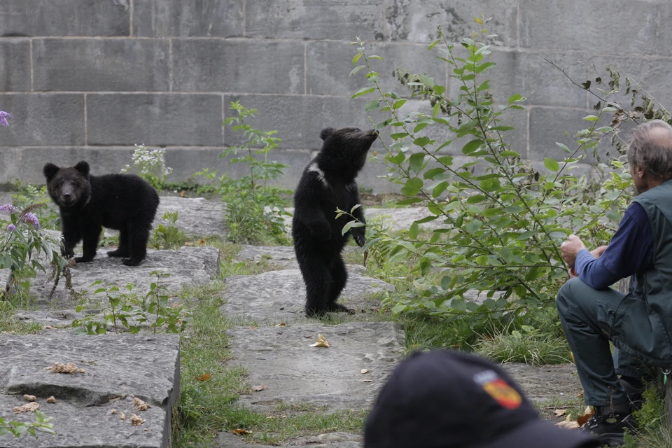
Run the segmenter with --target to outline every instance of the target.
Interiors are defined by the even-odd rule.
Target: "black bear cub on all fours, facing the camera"
[[[119,230],[119,248],[111,257],[127,257],[123,263],[137,266],[147,255],[147,240],[159,206],[159,195],[134,174],[91,176],[89,164],[74,167],[44,165],[47,188],[61,212],[63,256],[74,256],[73,248],[83,240],[78,263],[93,260],[103,227]]]

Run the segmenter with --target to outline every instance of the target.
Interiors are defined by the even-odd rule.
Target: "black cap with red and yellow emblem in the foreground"
[[[371,409],[365,448],[598,447],[590,435],[542,421],[499,367],[458,351],[414,353]]]

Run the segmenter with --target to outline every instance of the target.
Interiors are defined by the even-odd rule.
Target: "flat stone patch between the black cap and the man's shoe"
[[[576,400],[583,391],[573,364],[529,365],[503,364],[503,369],[523,389],[532,402]]]

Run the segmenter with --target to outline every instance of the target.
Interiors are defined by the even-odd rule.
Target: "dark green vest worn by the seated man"
[[[614,311],[611,338],[619,349],[659,367],[672,367],[672,180],[638,195],[649,218],[654,259],[636,273]]]

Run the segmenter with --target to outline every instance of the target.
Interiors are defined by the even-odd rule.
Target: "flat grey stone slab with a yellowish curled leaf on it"
[[[318,333],[329,348],[310,346]],[[228,334],[235,356],[228,365],[246,368],[252,386],[267,386],[239,398],[260,412],[280,402],[367,409],[405,352],[404,332],[393,322],[234,328]]]

